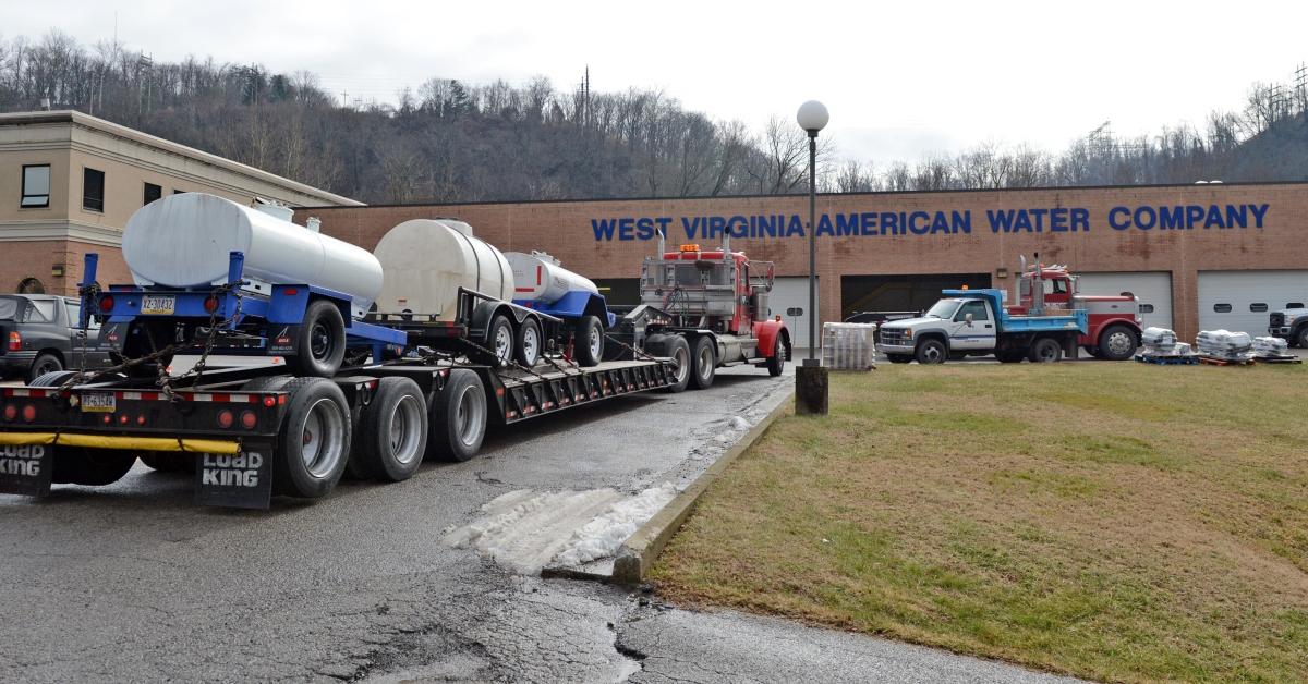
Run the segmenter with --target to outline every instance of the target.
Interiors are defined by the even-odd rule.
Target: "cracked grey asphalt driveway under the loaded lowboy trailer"
[[[636,395],[488,436],[407,483],[269,511],[191,504],[144,466],[44,501],[0,496],[4,681],[1008,680],[1042,675],[640,592],[521,577],[442,543],[505,492],[685,487],[790,377]],[[729,438],[723,438],[726,434]]]

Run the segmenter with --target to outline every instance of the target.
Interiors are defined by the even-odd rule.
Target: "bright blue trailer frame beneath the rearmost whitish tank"
[[[101,301],[94,301],[98,263],[99,255],[86,254],[82,282],[78,284],[82,297],[81,323],[85,326],[86,316],[92,313],[106,316],[101,340],[118,349],[126,341],[126,327],[135,320],[190,320],[194,323],[218,320],[220,330],[226,332],[235,332],[243,323],[260,320],[268,326],[267,335],[255,340],[252,345],[225,348],[225,351],[251,353],[250,349],[256,349],[264,356],[296,354],[300,351],[294,348],[297,336],[293,328],[303,323],[305,310],[313,299],[331,301],[341,310],[341,316],[345,320],[347,349],[366,348],[373,358],[382,358],[387,348],[399,354],[408,344],[408,335],[404,331],[354,319],[351,315],[352,297],[343,292],[300,282],[273,284],[268,294],[241,290],[241,286],[247,281],[242,277],[245,254],[239,251],[230,252],[228,281],[222,285],[198,288],[110,285],[109,290],[101,293],[101,301],[103,296],[112,297],[112,306],[107,311],[101,309]],[[146,297],[171,297],[173,307],[170,311],[143,311]],[[273,331],[272,328],[276,326],[284,327]]]

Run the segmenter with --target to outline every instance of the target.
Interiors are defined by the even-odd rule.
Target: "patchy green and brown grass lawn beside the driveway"
[[[832,374],[654,569],[672,600],[1105,680],[1308,680],[1308,371]]]

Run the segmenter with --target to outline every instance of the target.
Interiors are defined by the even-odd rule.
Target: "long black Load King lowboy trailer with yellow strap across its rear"
[[[69,379],[0,392],[0,493],[109,484],[95,479],[120,468],[116,480],[144,456],[161,470],[194,468],[198,504],[266,509],[279,493],[326,496],[347,468],[399,481],[432,453],[466,460],[488,426],[671,387],[676,370],[659,358],[532,369],[400,358],[332,378],[209,370],[166,390],[139,378]],[[332,450],[336,460],[324,456]]]

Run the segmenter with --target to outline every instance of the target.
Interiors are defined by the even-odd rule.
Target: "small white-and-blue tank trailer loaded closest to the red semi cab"
[[[617,320],[599,288],[543,251],[504,256],[513,267],[513,303],[561,319],[564,324],[551,341],[570,349],[582,366],[599,365],[604,358],[604,331]]]

